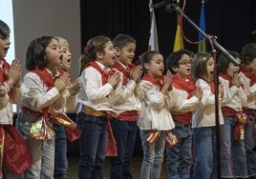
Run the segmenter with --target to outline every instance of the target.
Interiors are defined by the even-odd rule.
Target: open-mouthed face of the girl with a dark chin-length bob
[[[45,51],[46,58],[49,61],[46,68],[52,71],[62,68],[62,53],[56,39],[52,39]]]

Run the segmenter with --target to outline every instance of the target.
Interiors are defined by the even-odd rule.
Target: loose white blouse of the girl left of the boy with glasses
[[[163,95],[158,86],[148,81],[142,80],[140,84],[144,90],[144,98],[137,121],[139,129],[174,129],[175,124],[169,109],[174,107],[178,100],[175,89]]]

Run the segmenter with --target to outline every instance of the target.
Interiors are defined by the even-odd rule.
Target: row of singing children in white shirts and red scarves
[[[160,52],[148,51],[135,66],[137,42],[127,34],[118,34],[113,42],[101,35],[90,39],[74,84],[66,72],[71,60],[67,41],[61,44],[63,38],[54,36],[35,38],[26,54],[29,71],[21,77],[20,62],[14,60],[10,66],[4,59],[9,33],[0,21],[0,147],[5,149],[0,153],[1,178],[6,177],[6,169],[13,172],[6,160],[5,137],[13,120],[11,103],[20,99],[16,129],[27,142],[24,148],[30,160],[16,164],[14,171],[23,172],[23,178],[66,178],[68,131],[64,127],[76,129],[76,125],[69,134],[78,131],[79,179],[102,178],[106,156],[110,156],[110,178],[132,178],[129,167],[138,127],[142,179],[160,178],[164,151],[168,178],[191,178],[192,161],[193,178],[217,178],[219,134],[222,177],[256,177],[255,43],[246,44],[241,57],[230,51],[241,65],[219,55],[217,94],[212,54],[198,52],[191,57],[190,50],[178,50],[164,59]],[[75,124],[65,112],[77,104]],[[218,125],[220,133],[216,133]],[[57,156],[63,159],[59,163]]]

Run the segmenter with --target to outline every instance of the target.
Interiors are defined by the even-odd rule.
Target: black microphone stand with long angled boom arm
[[[167,3],[168,2],[168,3]],[[200,31],[203,36],[208,39],[210,42],[212,42],[215,47],[217,47],[219,50],[221,50],[235,65],[240,65],[238,61],[227,51],[224,50],[224,48],[217,42],[217,37],[206,34],[203,30],[201,30],[186,14],[184,14],[179,6],[177,6],[176,3],[174,3],[173,0],[163,0],[162,2],[156,4],[153,6],[153,9],[158,9],[162,6],[166,6],[167,4],[171,4],[171,7],[173,7],[174,10],[177,11],[178,14],[182,15],[182,17],[196,30]],[[216,50],[213,50],[213,57],[214,57],[214,88],[215,88],[215,124],[216,124],[216,162],[217,162],[217,178],[221,178],[221,148],[220,148],[220,118],[219,118],[219,77],[218,77],[218,68],[216,63]]]

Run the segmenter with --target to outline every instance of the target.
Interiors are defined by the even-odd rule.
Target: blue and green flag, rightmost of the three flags
[[[205,19],[204,19],[204,0],[202,0],[201,3],[201,12],[200,12],[200,25],[199,28],[203,31],[205,31]],[[202,41],[202,43],[199,44],[199,51],[206,51],[206,41],[203,38],[203,34],[199,32],[199,41]]]

